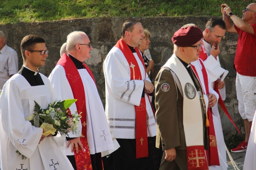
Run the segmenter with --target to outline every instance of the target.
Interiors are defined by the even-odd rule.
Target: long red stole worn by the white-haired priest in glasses
[[[76,153],[74,148],[76,168],[92,170],[93,168],[91,165],[91,158],[90,158],[89,146],[88,146],[87,135],[86,135],[87,127],[86,127],[85,91],[81,90],[81,89],[84,89],[84,85],[75,64],[73,63],[73,61],[69,56],[67,56],[66,54],[63,54],[60,57],[57,65],[58,64],[64,67],[66,72],[66,77],[71,87],[74,99],[77,99],[77,101],[75,102],[77,113],[82,112],[82,118],[81,118],[82,134],[85,137],[80,138],[80,141],[82,142],[85,151],[82,151],[81,148],[79,147],[79,152]],[[88,68],[88,66],[86,66],[86,64],[83,63],[83,65],[84,65],[84,68],[86,68],[86,70],[90,74],[91,78],[94,80],[91,70]],[[76,80],[74,80],[74,78],[76,78]]]

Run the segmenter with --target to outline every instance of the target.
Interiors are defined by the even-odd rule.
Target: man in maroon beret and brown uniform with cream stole
[[[176,31],[174,54],[156,77],[156,147],[165,151],[160,169],[208,169],[208,119],[202,87],[190,66],[199,58],[202,37],[194,26]]]

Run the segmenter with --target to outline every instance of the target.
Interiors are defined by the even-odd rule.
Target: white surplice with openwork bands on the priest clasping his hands
[[[137,53],[133,53],[133,55],[140,67],[142,76],[140,80],[131,80],[130,64],[123,52],[117,47],[110,50],[103,63],[106,89],[105,112],[110,129],[116,138],[135,139],[136,114],[134,105],[140,105],[141,96],[144,92],[143,80],[150,81],[145,74],[144,63],[141,63]],[[156,136],[156,120],[146,94],[145,100],[147,136],[153,137]]]

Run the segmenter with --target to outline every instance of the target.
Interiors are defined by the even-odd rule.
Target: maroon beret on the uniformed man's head
[[[202,30],[191,26],[176,31],[172,37],[172,42],[179,47],[188,47],[196,44],[202,37]]]

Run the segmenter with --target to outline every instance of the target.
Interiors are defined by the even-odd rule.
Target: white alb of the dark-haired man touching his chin
[[[205,51],[207,53],[207,59],[204,60],[205,68],[207,69],[207,72],[209,73],[210,80],[211,80],[211,87],[214,89],[214,81],[216,81],[225,71],[225,69],[221,68],[221,65],[219,63],[219,57],[217,56],[217,60],[210,55],[212,46],[207,43],[205,40],[203,40],[203,44],[205,47]],[[222,89],[219,89],[219,94],[222,97],[222,100],[226,99],[226,86],[224,86]],[[225,148],[225,141],[222,131],[222,125],[221,125],[221,117],[219,116],[218,111],[218,104],[215,104],[212,107],[213,111],[213,123],[214,123],[214,130],[217,140],[217,146],[218,146],[218,153],[219,153],[219,163],[220,166],[212,165],[209,167],[210,170],[219,169],[224,170],[227,169],[227,156],[226,156],[226,148]]]

